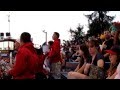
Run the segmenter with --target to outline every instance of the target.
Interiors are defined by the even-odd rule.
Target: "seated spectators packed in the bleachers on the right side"
[[[120,79],[120,31],[105,30],[83,43],[66,42],[66,60],[79,62],[68,79]],[[68,44],[69,43],[69,44]]]

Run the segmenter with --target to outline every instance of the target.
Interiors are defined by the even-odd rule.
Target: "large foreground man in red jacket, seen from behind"
[[[27,32],[22,33],[20,44],[15,65],[8,74],[12,75],[13,79],[34,79],[39,59],[31,42],[31,35]]]

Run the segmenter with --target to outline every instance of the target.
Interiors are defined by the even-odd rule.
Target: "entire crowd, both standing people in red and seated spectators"
[[[120,79],[120,30],[105,30],[97,37],[84,38],[81,43],[66,41],[64,45],[59,37],[59,33],[54,32],[53,41],[36,49],[31,35],[23,32],[15,42],[14,64],[5,71],[5,76],[61,79],[66,62],[78,62],[76,69],[67,73],[67,79]],[[1,57],[0,65],[2,62]]]

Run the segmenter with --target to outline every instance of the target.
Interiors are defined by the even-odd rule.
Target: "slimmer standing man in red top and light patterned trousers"
[[[59,33],[54,32],[52,36],[54,43],[51,46],[51,50],[48,54],[48,58],[50,59],[51,64],[51,75],[54,79],[60,79],[61,78],[61,56],[60,56],[60,39],[59,39]]]

